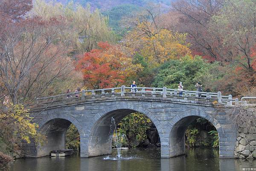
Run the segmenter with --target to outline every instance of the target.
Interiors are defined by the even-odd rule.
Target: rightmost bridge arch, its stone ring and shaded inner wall
[[[185,154],[185,131],[187,127],[198,118],[204,118],[211,122],[217,130],[219,138],[221,137],[220,135],[223,135],[224,130],[221,125],[207,113],[198,112],[193,115],[188,115],[186,113],[179,114],[172,119],[172,126],[169,134],[169,157]]]

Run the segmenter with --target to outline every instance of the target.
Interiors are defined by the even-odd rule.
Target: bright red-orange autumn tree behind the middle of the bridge
[[[84,85],[88,88],[110,88],[120,86],[142,67],[132,64],[132,58],[125,55],[121,46],[99,42],[101,49],[86,52],[80,58],[76,70],[84,74]]]

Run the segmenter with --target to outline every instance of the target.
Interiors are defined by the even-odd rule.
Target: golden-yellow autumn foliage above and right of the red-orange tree
[[[191,54],[186,36],[186,33],[157,29],[151,23],[144,22],[138,23],[123,43],[131,51],[140,51],[149,63],[158,65]]]

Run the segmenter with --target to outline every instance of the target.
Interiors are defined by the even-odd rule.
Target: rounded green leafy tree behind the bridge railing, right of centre
[[[218,67],[218,63],[210,64],[200,56],[185,56],[179,60],[167,61],[156,69],[152,86],[177,89],[179,81],[182,81],[184,90],[195,90],[194,85],[201,81],[204,91],[216,91],[218,85],[215,85],[215,81],[224,75],[216,72]]]

